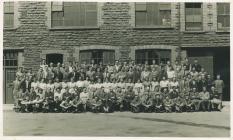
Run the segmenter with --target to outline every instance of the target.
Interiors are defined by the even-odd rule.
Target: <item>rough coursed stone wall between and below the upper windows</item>
[[[131,46],[178,45],[177,3],[172,4],[170,29],[135,29],[134,3],[100,3],[99,28],[77,30],[50,30],[47,2],[19,2],[19,26],[4,30],[4,48],[25,47],[24,66],[38,69],[42,50],[64,50],[66,60],[73,59],[75,48],[105,45],[120,48],[120,59],[130,57]],[[181,4],[181,8],[184,4]],[[184,9],[181,9],[181,14]],[[184,16],[184,15],[183,15]],[[204,17],[205,18],[205,17]],[[181,17],[183,24],[183,17]],[[182,28],[183,31],[183,28]],[[189,46],[230,46],[229,33],[183,33],[182,43]],[[43,51],[45,52],[45,51]]]

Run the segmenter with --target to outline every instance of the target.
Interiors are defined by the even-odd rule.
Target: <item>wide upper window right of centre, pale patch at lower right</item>
[[[136,26],[166,26],[171,25],[170,3],[143,3],[135,4]]]

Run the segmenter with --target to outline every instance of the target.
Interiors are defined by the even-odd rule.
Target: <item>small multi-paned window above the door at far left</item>
[[[4,51],[3,66],[18,66],[18,52],[16,51]]]

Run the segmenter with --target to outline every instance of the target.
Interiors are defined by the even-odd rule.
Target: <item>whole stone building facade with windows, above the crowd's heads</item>
[[[95,4],[96,24],[94,26],[55,27],[52,25],[53,3],[13,2],[13,7],[11,5],[13,23],[10,22],[11,27],[4,27],[3,47],[4,59],[7,61],[7,55],[14,52],[14,61],[17,62],[14,65],[7,64],[10,63],[10,59],[9,62],[4,61],[4,75],[5,78],[8,77],[8,80],[5,80],[13,79],[10,75],[14,70],[9,74],[7,73],[9,68],[23,66],[36,71],[41,59],[58,58],[63,63],[68,63],[81,61],[81,52],[109,50],[113,52],[114,60],[143,62],[145,59],[149,60],[150,55],[146,58],[144,56],[138,58],[140,55],[138,52],[145,51],[141,55],[146,55],[150,54],[146,53],[146,50],[159,50],[158,61],[174,62],[177,58],[185,57],[192,61],[197,58],[212,75],[225,73],[224,78],[229,84],[230,30],[228,27],[220,28],[223,25],[218,20],[218,4],[200,3],[200,7],[198,5],[191,7],[200,8],[200,16],[196,19],[200,22],[201,28],[187,30],[187,20],[190,17],[186,12],[190,7],[186,3],[169,3],[165,4],[164,9],[159,9],[169,13],[166,26],[161,24],[137,26],[137,22],[139,23],[137,13],[148,10],[150,4],[141,3],[138,6],[134,2],[100,2]],[[65,4],[62,3],[62,5]],[[57,10],[59,11],[59,8]],[[147,20],[149,14],[148,12]],[[195,18],[193,20],[194,26],[199,24],[195,22]],[[192,23],[190,25],[192,26]],[[166,54],[167,50],[168,56],[166,58],[160,56],[160,50],[162,50],[161,54]],[[50,61],[52,60],[47,60],[47,62]],[[9,77],[11,77],[10,80]],[[5,88],[7,89],[7,86]]]

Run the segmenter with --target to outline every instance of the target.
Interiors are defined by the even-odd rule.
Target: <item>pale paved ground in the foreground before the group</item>
[[[4,110],[4,136],[229,137],[230,110],[195,113],[15,113]]]

